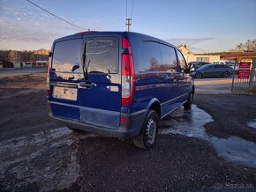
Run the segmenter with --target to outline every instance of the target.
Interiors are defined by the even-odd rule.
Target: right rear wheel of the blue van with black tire
[[[158,116],[154,110],[150,110],[147,114],[145,122],[143,122],[139,136],[133,138],[133,143],[141,149],[149,149],[154,146],[157,136]]]

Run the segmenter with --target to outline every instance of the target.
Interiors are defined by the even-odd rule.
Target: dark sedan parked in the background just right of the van
[[[205,64],[191,73],[192,78],[229,78],[233,69],[226,64]]]

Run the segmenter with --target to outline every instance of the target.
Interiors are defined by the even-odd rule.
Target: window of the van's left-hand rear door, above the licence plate
[[[56,42],[53,51],[52,68],[56,71],[79,72],[74,70],[74,65],[81,63],[81,40]]]

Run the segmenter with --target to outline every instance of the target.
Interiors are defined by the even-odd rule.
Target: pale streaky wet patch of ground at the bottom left
[[[69,188],[80,176],[77,144],[85,137],[93,135],[62,127],[1,142],[0,180],[4,189],[21,190],[33,183],[40,191]]]

